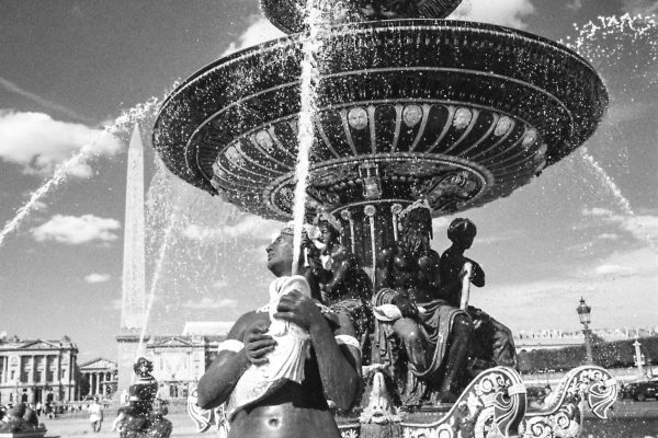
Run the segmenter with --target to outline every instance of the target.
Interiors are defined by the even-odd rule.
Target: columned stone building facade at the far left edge
[[[78,347],[59,341],[0,339],[0,404],[76,400]]]

